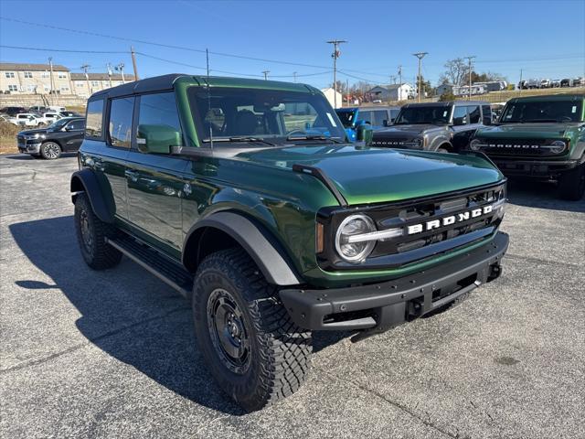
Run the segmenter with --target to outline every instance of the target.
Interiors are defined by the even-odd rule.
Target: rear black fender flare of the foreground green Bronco
[[[85,192],[88,198],[90,198],[93,213],[103,222],[112,223],[115,211],[112,193],[110,190],[110,193],[104,194],[102,187],[104,185],[100,184],[95,172],[89,168],[81,169],[80,171],[74,172],[71,176],[71,200],[75,204],[77,194],[79,192]]]

